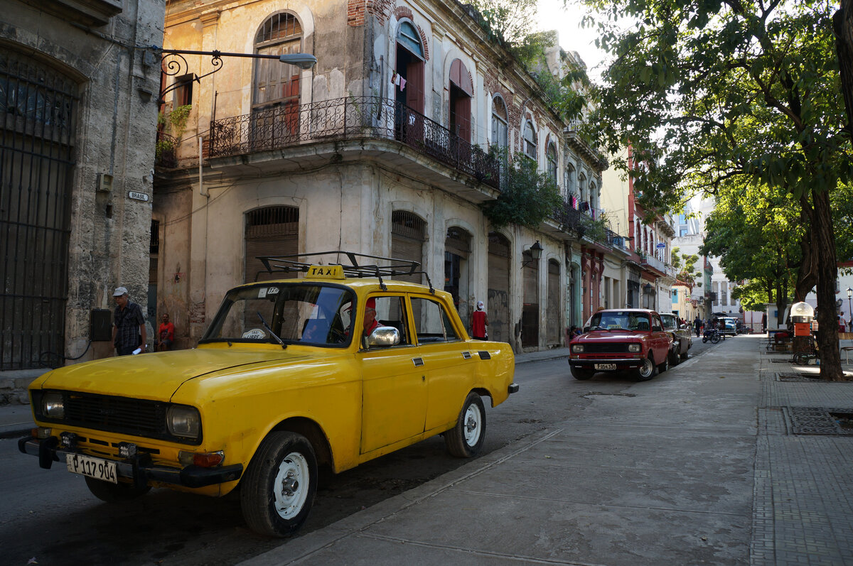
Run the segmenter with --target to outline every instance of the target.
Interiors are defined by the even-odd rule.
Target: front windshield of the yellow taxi
[[[199,341],[256,344],[350,343],[355,293],[343,286],[263,283],[228,292]]]

